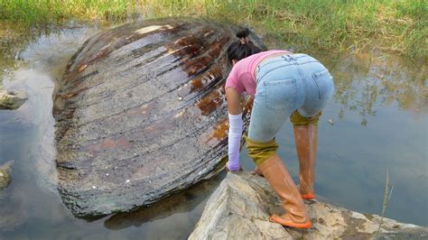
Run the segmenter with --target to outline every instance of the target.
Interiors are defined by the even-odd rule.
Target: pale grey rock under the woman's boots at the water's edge
[[[369,239],[379,216],[360,214],[327,203],[306,201],[312,228],[298,230],[269,222],[282,212],[281,202],[265,179],[247,172],[228,173],[211,195],[189,239]],[[426,239],[428,228],[384,218],[380,239]]]

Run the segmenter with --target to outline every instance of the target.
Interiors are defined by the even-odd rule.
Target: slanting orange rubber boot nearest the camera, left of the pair
[[[286,211],[284,215],[274,214],[270,219],[284,226],[310,228],[312,224],[299,190],[278,155],[267,159],[258,168],[276,194],[283,199],[283,208]]]

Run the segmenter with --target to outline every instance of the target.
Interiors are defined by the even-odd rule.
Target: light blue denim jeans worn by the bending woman
[[[248,137],[259,143],[271,141],[295,110],[305,117],[317,115],[333,92],[329,70],[311,56],[287,54],[262,60],[256,68]]]

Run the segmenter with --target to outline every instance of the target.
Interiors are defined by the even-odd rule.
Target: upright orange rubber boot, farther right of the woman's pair
[[[294,141],[299,158],[299,190],[303,199],[315,198],[315,162],[318,141],[318,126],[295,125]]]

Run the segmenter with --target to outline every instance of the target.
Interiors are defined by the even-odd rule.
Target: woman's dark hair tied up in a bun
[[[249,29],[245,28],[237,32],[237,38],[239,39],[237,42],[232,42],[230,46],[228,46],[228,61],[232,62],[232,60],[242,60],[251,56],[255,53],[260,52],[260,48],[258,48],[253,42],[248,41],[247,37],[249,35]]]

